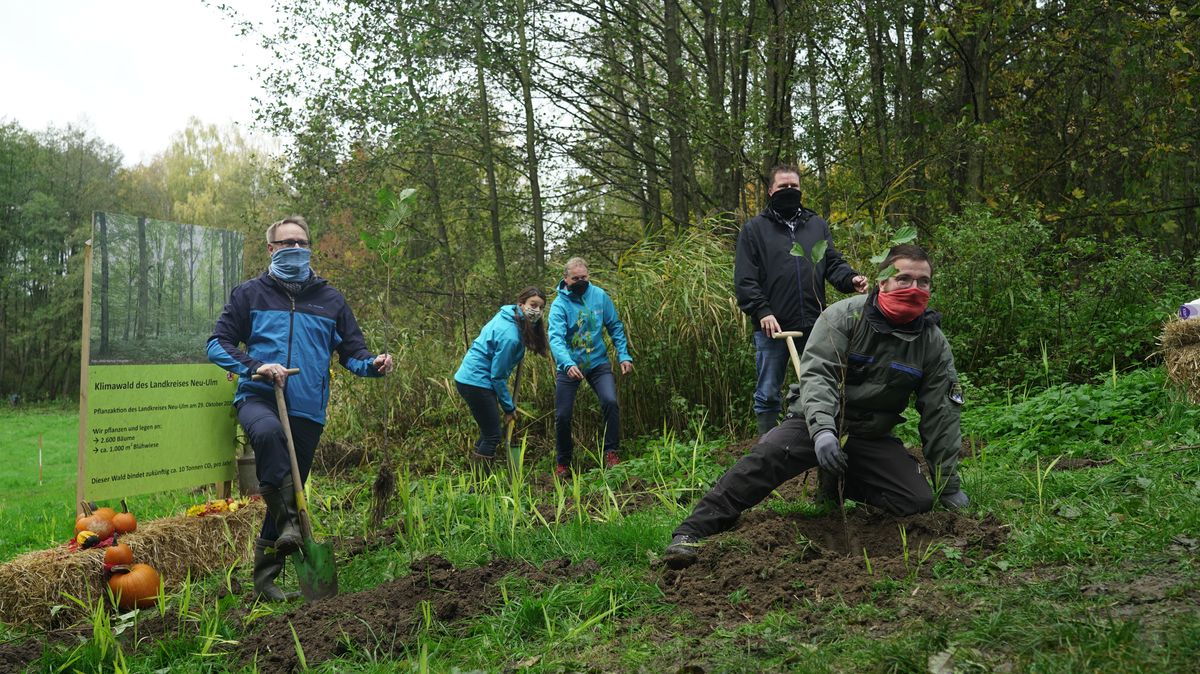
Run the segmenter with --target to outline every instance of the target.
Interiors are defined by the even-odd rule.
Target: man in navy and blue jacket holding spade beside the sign
[[[240,378],[233,404],[254,447],[259,491],[268,508],[254,542],[254,591],[270,601],[286,598],[275,578],[301,542],[292,462],[274,385],[286,387],[296,463],[300,479],[306,480],[325,428],[332,353],[359,377],[383,377],[394,367],[390,355],[367,350],[346,297],[312,271],[311,241],[308,223],[299,216],[266,228],[271,265],[233,289],[208,345],[209,360]],[[300,368],[300,373],[288,377],[288,368]],[[253,374],[266,381],[252,381]]]

